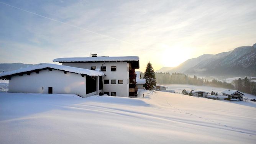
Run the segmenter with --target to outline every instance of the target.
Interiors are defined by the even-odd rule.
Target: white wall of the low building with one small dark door
[[[53,87],[53,93],[78,94],[82,97],[94,95],[95,92],[86,95],[85,79],[80,74],[64,74],[61,70],[41,70],[39,74],[32,72],[30,75],[11,77],[9,92],[48,93],[48,87]]]

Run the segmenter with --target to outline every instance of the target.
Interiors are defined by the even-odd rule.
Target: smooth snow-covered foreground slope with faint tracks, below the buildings
[[[254,144],[256,141],[256,106],[168,92],[144,90],[139,95],[140,98],[80,98],[0,93],[0,143]]]

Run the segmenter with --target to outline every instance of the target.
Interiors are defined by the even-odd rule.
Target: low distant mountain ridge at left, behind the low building
[[[43,63],[41,63],[43,64]],[[5,71],[11,71],[16,69],[22,69],[25,67],[31,67],[33,65],[40,65],[40,64],[23,64],[23,63],[11,63],[11,64],[0,64],[0,72]]]

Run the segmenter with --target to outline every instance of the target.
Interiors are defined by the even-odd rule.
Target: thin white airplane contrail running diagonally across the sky
[[[64,22],[62,22],[62,21],[54,20],[54,19],[52,19],[52,18],[43,16],[43,15],[39,15],[39,14],[37,14],[37,13],[33,13],[33,12],[31,12],[31,11],[28,11],[28,10],[24,10],[24,9],[18,8],[18,7],[15,7],[15,6],[13,6],[13,5],[9,5],[9,4],[4,3],[4,2],[0,2],[0,3],[2,3],[2,4],[4,4],[4,5],[8,5],[8,6],[13,7],[13,8],[16,8],[16,9],[18,9],[18,10],[22,10],[22,11],[31,13],[31,14],[33,14],[33,15],[40,16],[40,17],[42,17],[42,18],[46,18],[46,19],[49,19],[49,20],[52,20],[52,21],[56,21],[56,22],[62,23],[62,24],[64,24],[64,25],[72,26],[72,27],[74,27],[74,28],[82,29],[82,30],[88,31],[88,32],[90,32],[90,33],[94,33],[94,34],[98,34],[98,35],[100,35],[100,36],[104,36],[104,37],[107,37],[107,38],[115,39],[115,40],[120,41],[120,42],[122,42],[122,43],[127,43],[127,44],[130,44],[130,45],[133,45],[133,46],[138,46],[137,44],[129,43],[129,42],[127,42],[127,41],[123,41],[123,40],[121,40],[121,39],[113,38],[113,37],[107,36],[107,35],[105,35],[105,34],[96,33],[96,32],[94,32],[94,31],[90,31],[89,29],[80,28],[80,27],[78,27],[78,26],[74,26],[74,25],[71,25],[71,24],[69,24],[69,23],[64,23]],[[138,47],[142,47],[142,46],[138,46]],[[143,47],[143,48],[146,48],[146,47]]]

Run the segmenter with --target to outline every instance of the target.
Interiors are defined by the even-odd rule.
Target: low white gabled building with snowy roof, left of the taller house
[[[80,97],[102,92],[103,72],[57,64],[42,64],[0,74],[11,93],[60,93]]]

